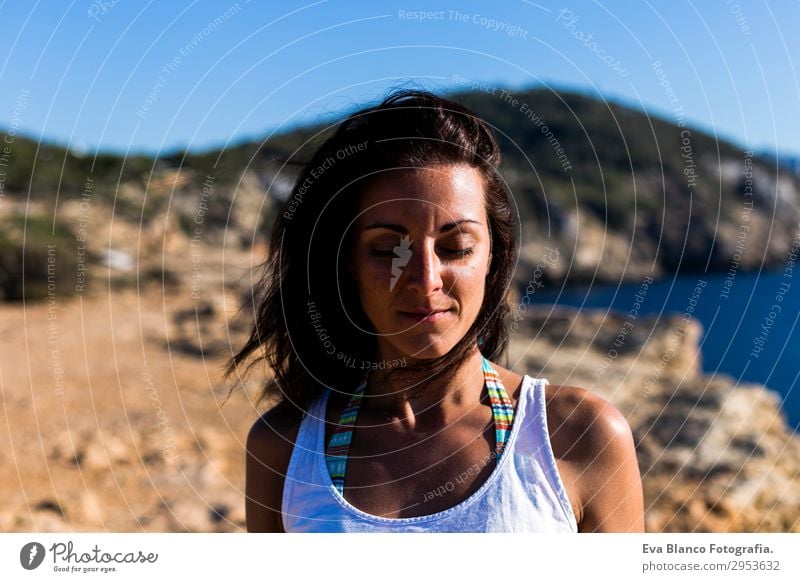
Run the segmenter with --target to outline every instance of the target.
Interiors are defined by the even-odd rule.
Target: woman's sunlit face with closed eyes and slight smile
[[[388,171],[365,189],[348,268],[379,360],[443,356],[475,321],[491,256],[484,189],[466,165]]]

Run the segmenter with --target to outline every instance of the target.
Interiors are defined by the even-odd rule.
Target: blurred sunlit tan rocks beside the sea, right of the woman
[[[641,318],[635,328],[649,340],[626,340],[635,347],[618,350],[603,368],[598,357],[607,358],[621,316],[549,311],[536,307],[526,314],[536,339],[512,338],[511,363],[556,384],[589,388],[625,415],[642,472],[648,531],[800,528],[800,437],[787,426],[774,392],[701,372],[699,323],[681,327],[678,317]]]

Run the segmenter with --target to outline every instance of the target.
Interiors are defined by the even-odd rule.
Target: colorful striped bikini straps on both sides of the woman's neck
[[[483,358],[483,380],[484,386],[489,393],[489,400],[492,405],[492,416],[495,425],[495,457],[499,461],[505,450],[506,441],[511,432],[511,425],[514,422],[514,407],[508,393],[500,381],[489,360]],[[356,388],[350,397],[347,406],[339,417],[339,423],[331,435],[325,453],[325,461],[328,465],[328,472],[331,476],[336,490],[344,495],[344,474],[347,468],[347,453],[350,450],[350,442],[353,439],[353,427],[358,418],[358,409],[367,388],[366,380]]]

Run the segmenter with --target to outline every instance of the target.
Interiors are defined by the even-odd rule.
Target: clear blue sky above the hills
[[[219,146],[458,75],[800,154],[797,1],[44,0],[0,21],[0,127],[79,150]]]

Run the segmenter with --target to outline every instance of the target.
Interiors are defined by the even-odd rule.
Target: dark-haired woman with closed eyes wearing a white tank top
[[[499,162],[470,111],[403,91],[305,166],[229,367],[274,371],[249,531],[643,530],[621,414],[495,363],[517,247]]]

